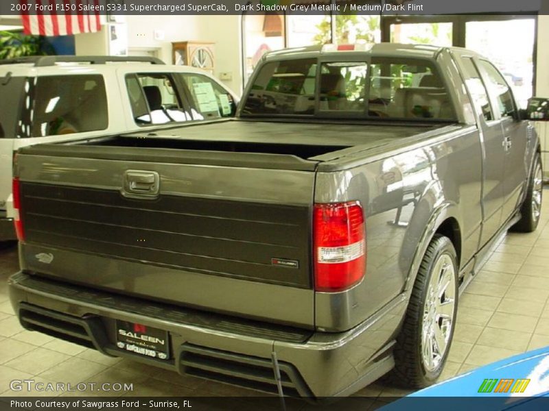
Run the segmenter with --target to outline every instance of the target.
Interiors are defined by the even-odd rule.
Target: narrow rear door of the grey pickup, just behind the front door
[[[477,114],[478,132],[484,147],[482,175],[482,234],[480,247],[502,225],[504,201],[505,147],[502,120],[494,115],[486,84],[478,71],[476,59],[467,55],[458,58],[465,84]]]

